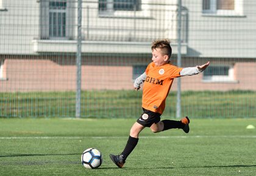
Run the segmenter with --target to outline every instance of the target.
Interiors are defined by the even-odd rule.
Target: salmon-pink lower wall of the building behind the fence
[[[76,90],[77,70],[74,63],[7,58],[2,68],[8,80],[0,81],[0,92]],[[202,74],[184,76],[182,90],[256,90],[256,63],[235,63],[234,72],[236,83],[204,83]],[[131,64],[82,64],[81,76],[82,90],[133,89]],[[176,87],[177,80],[174,80],[171,90],[176,90]]]

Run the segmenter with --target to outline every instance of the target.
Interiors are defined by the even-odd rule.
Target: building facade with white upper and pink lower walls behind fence
[[[171,40],[182,90],[256,90],[256,2],[82,1],[82,90],[133,89],[151,62],[151,42]],[[77,1],[0,0],[0,92],[76,90]],[[176,89],[176,81],[172,88]]]

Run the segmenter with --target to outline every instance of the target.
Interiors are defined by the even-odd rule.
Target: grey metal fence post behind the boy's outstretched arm
[[[182,0],[178,2],[178,52],[177,52],[177,66],[181,67],[181,13],[182,13]],[[177,80],[177,104],[176,104],[176,118],[181,117],[181,81]]]

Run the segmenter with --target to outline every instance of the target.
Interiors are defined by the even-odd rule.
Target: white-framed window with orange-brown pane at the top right
[[[242,15],[243,0],[202,0],[202,12],[215,15]]]

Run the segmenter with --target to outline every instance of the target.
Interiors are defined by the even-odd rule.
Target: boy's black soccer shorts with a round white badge
[[[137,123],[141,124],[144,127],[151,127],[153,123],[158,123],[160,121],[160,113],[152,112],[143,108],[143,113],[140,118],[138,118]]]

